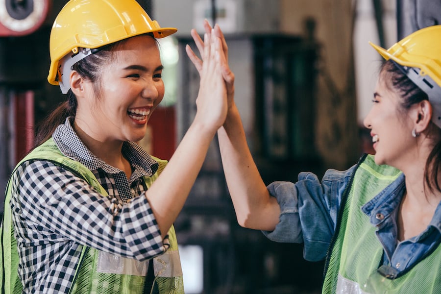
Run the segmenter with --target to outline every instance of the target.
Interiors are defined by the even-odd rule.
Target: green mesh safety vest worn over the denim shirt
[[[371,155],[359,164],[342,207],[339,231],[330,251],[323,283],[323,294],[441,294],[441,246],[395,279],[388,279],[377,272],[383,247],[375,235],[376,228],[360,208],[400,173],[390,166],[376,165]],[[337,284],[341,282],[339,279],[349,281],[346,283],[352,287],[338,289]]]

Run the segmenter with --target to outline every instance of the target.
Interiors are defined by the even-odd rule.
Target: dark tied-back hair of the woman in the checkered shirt
[[[154,38],[152,33],[146,33],[144,35]],[[72,69],[79,73],[83,79],[93,83],[96,95],[98,95],[101,90],[99,79],[101,77],[102,65],[112,61],[113,51],[120,46],[123,46],[125,41],[127,41],[127,39],[103,46],[93,54],[81,59],[72,66]],[[67,101],[58,105],[58,107],[37,126],[35,145],[33,148],[46,142],[52,136],[52,133],[57,126],[64,123],[68,117],[75,117],[77,101],[72,89],[69,89],[66,96]]]

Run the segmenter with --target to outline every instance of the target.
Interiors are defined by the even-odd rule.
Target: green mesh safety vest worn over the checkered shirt
[[[153,181],[159,176],[160,172],[165,168],[167,161],[154,158],[158,164],[157,172],[151,177],[144,177],[147,188],[151,186]],[[20,166],[27,160],[46,160],[54,164],[61,165],[78,176],[85,179],[94,189],[103,196],[108,196],[104,188],[101,187],[93,172],[77,161],[64,156],[55,145],[52,139],[41,146],[35,148],[29,153],[18,165]],[[16,167],[16,169],[17,169]],[[15,172],[15,170],[14,170]],[[9,204],[11,197],[11,187],[8,183],[6,189],[4,216],[1,226],[1,261],[3,267],[0,270],[0,281],[2,282],[2,290],[6,294],[21,294],[23,285],[18,276],[19,256],[17,252],[17,241],[14,237],[14,228],[12,226],[12,215]],[[180,268],[178,246],[174,227],[169,230],[169,249],[161,256],[154,258],[155,283],[153,288],[158,290],[159,294],[183,294],[184,286],[182,279],[182,270]],[[97,272],[97,260],[99,251],[86,246],[79,246],[81,251],[80,262],[76,270],[73,285],[70,293],[73,294],[141,294],[144,290],[145,276],[102,273]],[[172,256],[166,259],[167,264],[162,259],[164,256]],[[173,263],[175,261],[175,263]],[[166,272],[166,274],[163,274]],[[157,274],[156,274],[157,273]],[[170,273],[177,273],[172,276]],[[155,292],[153,292],[155,293]]]

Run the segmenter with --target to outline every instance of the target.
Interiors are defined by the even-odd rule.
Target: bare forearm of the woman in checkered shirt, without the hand
[[[194,122],[164,171],[146,192],[163,237],[184,206],[215,132]]]

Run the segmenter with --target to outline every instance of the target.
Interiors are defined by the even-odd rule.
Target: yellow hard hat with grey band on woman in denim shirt
[[[369,44],[386,60],[392,59],[429,97],[432,121],[441,128],[441,25],[413,32],[389,49]]]

